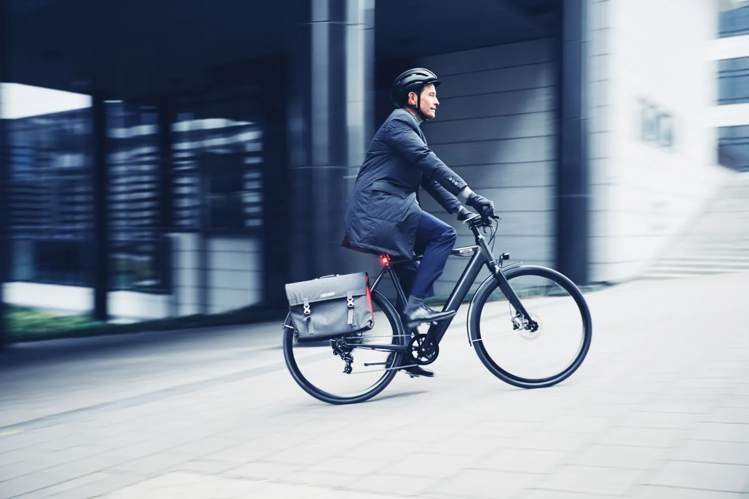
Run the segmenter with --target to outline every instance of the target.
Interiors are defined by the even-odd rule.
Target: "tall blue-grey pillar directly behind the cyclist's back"
[[[292,281],[349,272],[343,215],[354,175],[372,134],[374,2],[307,0],[297,27],[288,145]],[[282,186],[278,186],[282,189]]]

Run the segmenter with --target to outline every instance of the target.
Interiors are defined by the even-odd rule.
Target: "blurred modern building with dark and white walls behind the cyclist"
[[[215,313],[375,269],[342,214],[409,67],[443,80],[425,135],[497,203],[497,249],[578,284],[642,275],[749,169],[742,1],[0,0],[0,22],[10,304]]]

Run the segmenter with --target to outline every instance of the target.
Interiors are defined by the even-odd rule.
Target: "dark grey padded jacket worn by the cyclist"
[[[455,195],[467,185],[427,147],[419,121],[395,109],[377,130],[344,218],[344,245],[413,257],[422,186],[449,213],[461,206]]]

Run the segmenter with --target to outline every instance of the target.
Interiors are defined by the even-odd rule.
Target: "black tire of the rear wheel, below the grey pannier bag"
[[[376,304],[378,307],[380,307],[380,310],[386,316],[386,319],[392,326],[393,334],[395,335],[395,337],[393,338],[393,344],[401,346],[407,345],[407,338],[404,337],[404,329],[403,325],[401,324],[400,316],[398,316],[398,312],[395,311],[395,307],[392,306],[392,303],[390,303],[390,301],[377,290],[372,291],[372,302],[373,304]],[[290,320],[291,319],[289,317],[286,318],[285,326],[290,325]],[[368,390],[363,391],[359,394],[355,394],[353,396],[339,396],[336,394],[330,394],[329,392],[316,387],[303,375],[303,373],[299,369],[299,366],[297,365],[297,361],[294,359],[294,329],[292,328],[284,327],[283,350],[286,367],[288,367],[288,370],[291,373],[291,376],[294,378],[294,381],[296,381],[304,391],[312,395],[312,397],[315,397],[316,399],[321,400],[322,402],[327,402],[329,404],[354,404],[371,399],[372,397],[375,397],[377,394],[383,391],[386,386],[389,385],[390,382],[392,382],[395,374],[398,373],[398,370],[396,369],[385,370],[383,376],[379,379],[379,381],[376,382],[375,385],[372,385]],[[403,358],[403,353],[393,352],[392,355],[393,359],[388,367],[399,366]]]

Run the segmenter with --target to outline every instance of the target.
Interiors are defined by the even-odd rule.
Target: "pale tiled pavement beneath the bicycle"
[[[590,293],[589,356],[543,390],[491,376],[456,319],[437,377],[347,406],[294,384],[276,324],[14,346],[0,498],[749,499],[747,296]]]

